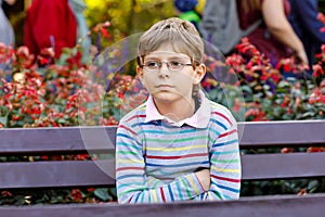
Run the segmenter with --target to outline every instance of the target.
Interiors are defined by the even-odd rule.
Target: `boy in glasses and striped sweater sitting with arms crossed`
[[[119,203],[238,199],[236,123],[205,98],[204,43],[194,25],[168,18],[138,44],[136,73],[150,92],[118,126]]]

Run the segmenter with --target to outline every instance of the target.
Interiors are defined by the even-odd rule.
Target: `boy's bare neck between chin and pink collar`
[[[191,100],[183,99],[173,103],[156,102],[155,100],[154,102],[158,112],[173,122],[191,117],[195,111],[195,102],[192,98]]]

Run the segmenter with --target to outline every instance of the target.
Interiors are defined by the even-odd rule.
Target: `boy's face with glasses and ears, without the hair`
[[[191,101],[193,85],[199,84],[206,73],[204,64],[193,69],[188,55],[164,46],[145,55],[142,64],[144,66],[138,66],[136,73],[151,95],[160,103]]]

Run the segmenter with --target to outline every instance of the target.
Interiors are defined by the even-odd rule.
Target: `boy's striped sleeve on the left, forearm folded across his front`
[[[185,201],[204,193],[194,173],[180,176],[170,183],[148,188],[143,144],[126,124],[120,124],[116,137],[116,186],[118,203],[164,203]]]

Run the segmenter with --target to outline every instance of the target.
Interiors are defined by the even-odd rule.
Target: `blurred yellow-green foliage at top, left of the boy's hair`
[[[108,21],[113,41],[142,33],[159,20],[174,16],[170,0],[86,0],[84,15],[90,27]]]

